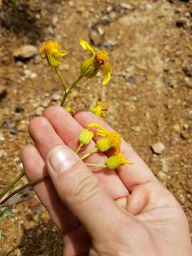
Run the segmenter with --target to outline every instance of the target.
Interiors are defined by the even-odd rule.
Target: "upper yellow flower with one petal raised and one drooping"
[[[80,66],[81,74],[87,78],[93,78],[101,66],[103,66],[104,79],[102,84],[107,85],[111,78],[111,68],[107,50],[95,50],[87,41],[80,39],[80,45],[84,50],[92,53],[92,57],[84,60]]]

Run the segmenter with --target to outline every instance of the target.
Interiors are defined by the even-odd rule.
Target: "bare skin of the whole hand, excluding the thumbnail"
[[[34,145],[21,154],[29,181],[50,176],[34,190],[63,233],[63,255],[192,255],[181,206],[130,144],[122,142],[122,153],[135,164],[117,171],[87,168],[75,156],[80,130],[90,122],[112,129],[90,112],[71,117],[62,107],[49,107],[43,117],[30,122]],[[94,141],[85,151],[95,146]],[[50,157],[62,150],[75,158],[75,164],[58,173]],[[93,154],[85,162],[102,164],[113,153]]]

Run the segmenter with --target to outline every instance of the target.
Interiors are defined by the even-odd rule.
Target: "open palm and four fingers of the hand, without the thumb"
[[[71,117],[61,107],[50,107],[43,117],[33,119],[28,130],[34,145],[26,146],[22,151],[23,166],[28,179],[33,181],[46,174],[46,156],[53,146],[65,144],[75,150],[81,129],[91,122],[112,129],[90,112],[77,112]],[[86,150],[92,149],[94,144],[95,142],[91,142]],[[119,225],[119,233],[122,235],[117,243],[110,240],[110,237],[105,239],[105,227],[102,239],[93,241],[92,234],[68,210],[49,178],[36,185],[38,198],[64,235],[63,255],[120,255],[114,253],[118,251],[118,246],[123,247],[122,255],[191,255],[188,222],[181,206],[156,180],[132,146],[124,141],[122,153],[129,161],[134,161],[134,166],[122,166],[117,171],[91,168],[104,191],[117,205],[120,215],[122,214],[119,217],[121,225],[117,220],[107,230],[110,235],[115,230],[116,223],[117,230]],[[85,161],[103,164],[110,154],[112,152],[95,153]],[[105,247],[107,249],[103,249]],[[144,254],[146,247],[149,254]]]

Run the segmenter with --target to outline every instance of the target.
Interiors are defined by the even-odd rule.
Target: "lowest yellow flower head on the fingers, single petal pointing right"
[[[133,162],[127,161],[122,153],[114,154],[107,159],[107,167],[109,169],[117,169],[124,164],[134,164]]]

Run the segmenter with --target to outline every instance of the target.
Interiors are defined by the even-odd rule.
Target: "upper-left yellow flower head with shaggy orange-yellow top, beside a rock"
[[[60,50],[61,46],[55,41],[46,41],[41,45],[41,58],[46,58],[48,65],[52,68],[58,68],[60,65],[60,58],[68,54],[66,50]]]

